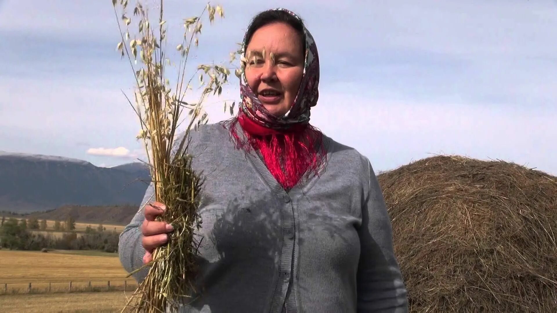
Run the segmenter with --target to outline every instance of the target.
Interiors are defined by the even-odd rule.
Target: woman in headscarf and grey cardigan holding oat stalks
[[[301,19],[258,14],[236,118],[192,133],[206,173],[197,299],[185,312],[406,312],[390,219],[365,156],[309,125],[319,58]],[[153,194],[149,188],[143,204]],[[120,238],[128,271],[172,226],[141,206]],[[142,280],[145,272],[136,276]]]

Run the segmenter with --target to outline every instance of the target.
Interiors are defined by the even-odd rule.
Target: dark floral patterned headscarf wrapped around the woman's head
[[[283,11],[289,13],[300,22],[302,19],[294,12],[284,8],[274,8],[269,11]],[[303,25],[303,22],[302,22]],[[255,121],[257,124],[273,130],[287,130],[292,125],[307,124],[310,120],[310,108],[317,104],[319,98],[319,56],[317,55],[317,46],[311,33],[304,26],[305,41],[305,63],[304,76],[302,77],[298,93],[291,109],[281,117],[277,117],[269,113],[257,99],[255,92],[251,90],[246,80],[245,71],[242,71],[240,78],[240,95],[242,101],[240,103],[240,111]],[[246,57],[247,33],[243,39],[242,55]]]

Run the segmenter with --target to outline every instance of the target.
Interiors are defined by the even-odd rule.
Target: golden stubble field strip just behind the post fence
[[[4,283],[8,284],[8,294],[26,292],[29,283],[35,292],[48,290],[48,283],[53,292],[67,291],[70,281],[76,290],[86,288],[89,281],[92,287],[105,290],[108,281],[111,287],[122,287],[127,281],[130,291],[135,288],[133,278],[126,279],[127,273],[116,253],[0,250],[0,268],[0,293],[4,292]]]

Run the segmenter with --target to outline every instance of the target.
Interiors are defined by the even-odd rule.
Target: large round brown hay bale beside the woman
[[[412,312],[557,312],[557,178],[434,156],[378,175]]]

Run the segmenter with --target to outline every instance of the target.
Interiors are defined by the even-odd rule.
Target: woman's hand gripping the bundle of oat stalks
[[[155,218],[162,214],[166,208],[160,202],[145,205],[145,219],[141,225],[141,234],[143,234],[141,244],[145,248],[145,256],[143,256],[143,263],[145,264],[153,260],[153,250],[167,243],[167,233],[174,230],[174,227],[170,224],[155,221]]]

